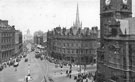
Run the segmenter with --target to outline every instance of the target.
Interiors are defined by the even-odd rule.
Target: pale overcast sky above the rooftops
[[[135,14],[135,0],[133,15]],[[100,26],[100,0],[0,0],[0,19],[24,34],[30,29],[47,32],[57,26],[70,28],[76,17],[77,3],[83,27]]]

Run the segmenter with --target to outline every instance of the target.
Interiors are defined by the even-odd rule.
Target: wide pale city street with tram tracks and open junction
[[[36,59],[34,52],[29,53],[26,58],[28,58],[28,62],[25,62],[25,58],[22,58],[17,67],[17,71],[13,66],[7,67],[1,71],[0,82],[26,82],[25,76],[28,75],[28,72],[30,72],[32,77],[30,82],[44,82],[45,78],[48,82],[49,78],[54,82],[76,82],[73,77],[71,79],[66,77],[65,73],[66,70],[69,69],[69,66],[55,68],[54,63],[50,63],[47,60],[41,61],[40,59]],[[95,71],[95,67],[91,68],[91,71]],[[73,67],[72,75],[78,73],[77,69],[78,67]]]

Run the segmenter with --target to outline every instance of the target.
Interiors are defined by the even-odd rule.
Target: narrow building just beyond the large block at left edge
[[[15,31],[15,56],[21,55],[23,52],[22,32]]]

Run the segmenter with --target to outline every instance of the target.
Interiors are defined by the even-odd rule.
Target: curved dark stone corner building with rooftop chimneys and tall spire
[[[90,64],[96,58],[98,28],[82,29],[77,6],[76,21],[69,29],[56,27],[47,32],[48,55],[79,65]]]

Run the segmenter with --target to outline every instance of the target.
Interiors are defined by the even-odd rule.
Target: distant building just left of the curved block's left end
[[[34,33],[34,43],[36,45],[43,45],[43,32],[37,31]]]

